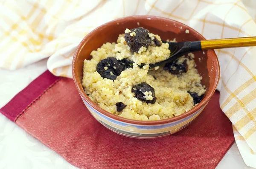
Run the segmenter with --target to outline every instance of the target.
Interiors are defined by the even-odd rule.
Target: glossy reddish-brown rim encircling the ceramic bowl
[[[165,18],[165,17],[158,17],[158,16],[151,16],[151,15],[135,15],[135,16],[129,16],[129,17],[121,17],[121,18],[118,18],[116,20],[111,20],[110,22],[107,22],[107,23],[105,23],[103,25],[100,25],[99,27],[97,27],[93,31],[91,31],[89,34],[87,34],[82,39],[82,41],[79,43],[78,47],[76,48],[76,51],[74,53],[73,60],[72,60],[72,76],[73,76],[73,80],[75,82],[76,88],[77,88],[80,96],[82,97],[82,99],[84,99],[87,102],[87,104],[89,104],[91,107],[93,107],[93,109],[95,109],[99,113],[102,113],[103,115],[106,115],[109,118],[113,118],[114,120],[122,121],[122,122],[125,122],[125,123],[128,123],[128,124],[139,124],[139,125],[167,124],[167,123],[170,123],[170,122],[178,121],[178,120],[180,120],[182,118],[185,118],[185,117],[195,113],[201,107],[203,107],[205,104],[208,103],[209,99],[212,97],[213,93],[215,92],[215,90],[216,90],[216,88],[218,86],[218,82],[219,82],[219,79],[220,79],[220,65],[219,65],[219,62],[218,62],[218,57],[217,57],[217,55],[216,55],[214,50],[209,50],[209,52],[212,52],[212,55],[213,55],[212,58],[215,60],[214,61],[215,68],[217,67],[217,70],[216,70],[217,71],[217,73],[216,73],[217,76],[215,77],[215,81],[214,81],[212,90],[209,90],[209,92],[204,97],[204,99],[198,105],[193,107],[191,110],[189,110],[189,111],[187,111],[187,112],[185,112],[185,113],[183,113],[181,115],[177,115],[175,117],[172,117],[172,118],[167,118],[167,119],[162,119],[162,120],[155,120],[155,121],[140,121],[140,120],[133,120],[133,119],[123,118],[123,117],[114,115],[114,114],[109,113],[108,111],[102,109],[96,103],[94,103],[86,95],[86,93],[84,92],[83,87],[79,86],[80,82],[79,82],[79,77],[78,77],[78,75],[76,74],[76,71],[75,71],[75,65],[76,65],[76,60],[78,58],[78,54],[81,51],[81,48],[84,47],[84,41],[86,41],[87,37],[92,36],[97,31],[100,31],[101,29],[104,29],[105,27],[108,27],[111,24],[117,24],[117,23],[120,23],[120,22],[125,22],[126,20],[133,20],[133,19],[138,19],[138,18],[139,19],[145,19],[145,20],[152,20],[152,19],[154,19],[154,20],[164,20],[164,21],[168,21],[168,22],[172,21],[172,23],[180,24],[180,25],[184,26],[184,28],[190,28],[192,31],[197,33],[199,37],[201,37],[201,40],[206,40],[205,37],[203,37],[203,35],[199,34],[198,31],[195,31],[193,28],[189,27],[188,25],[185,25],[184,23],[180,23],[180,22],[178,22],[176,20],[168,19],[168,18]]]

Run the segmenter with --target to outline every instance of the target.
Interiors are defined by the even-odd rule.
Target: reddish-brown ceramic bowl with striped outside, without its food
[[[196,41],[205,39],[194,29],[175,20],[156,16],[131,16],[105,23],[91,31],[79,44],[73,57],[73,79],[85,106],[94,118],[109,130],[120,135],[132,138],[158,138],[173,134],[182,130],[191,123],[207,105],[219,82],[219,63],[215,52],[195,52],[195,63],[198,72],[202,76],[202,84],[207,91],[204,99],[192,110],[173,118],[157,121],[138,121],[122,118],[103,110],[95,104],[84,92],[82,87],[83,62],[90,60],[90,53],[100,48],[103,43],[116,42],[119,34],[123,34],[126,28],[144,27],[153,34],[158,34],[161,39],[174,39],[179,41]],[[185,31],[189,30],[189,34]]]

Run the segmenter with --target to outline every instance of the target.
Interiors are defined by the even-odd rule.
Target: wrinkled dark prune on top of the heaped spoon
[[[131,32],[135,32],[136,35],[131,36]],[[149,31],[145,28],[134,28],[131,32],[125,33],[125,42],[130,47],[132,53],[138,52],[140,47],[144,46],[148,48],[151,44],[151,37],[149,37]]]

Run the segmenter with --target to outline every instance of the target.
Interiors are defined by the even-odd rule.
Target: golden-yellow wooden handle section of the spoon
[[[256,46],[256,37],[201,40],[202,50]]]

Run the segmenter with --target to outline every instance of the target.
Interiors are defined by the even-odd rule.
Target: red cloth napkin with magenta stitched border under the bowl
[[[90,115],[73,79],[46,71],[0,112],[79,168],[210,169],[234,141],[232,124],[221,112],[218,99],[215,92],[204,111],[174,135],[126,138]]]

